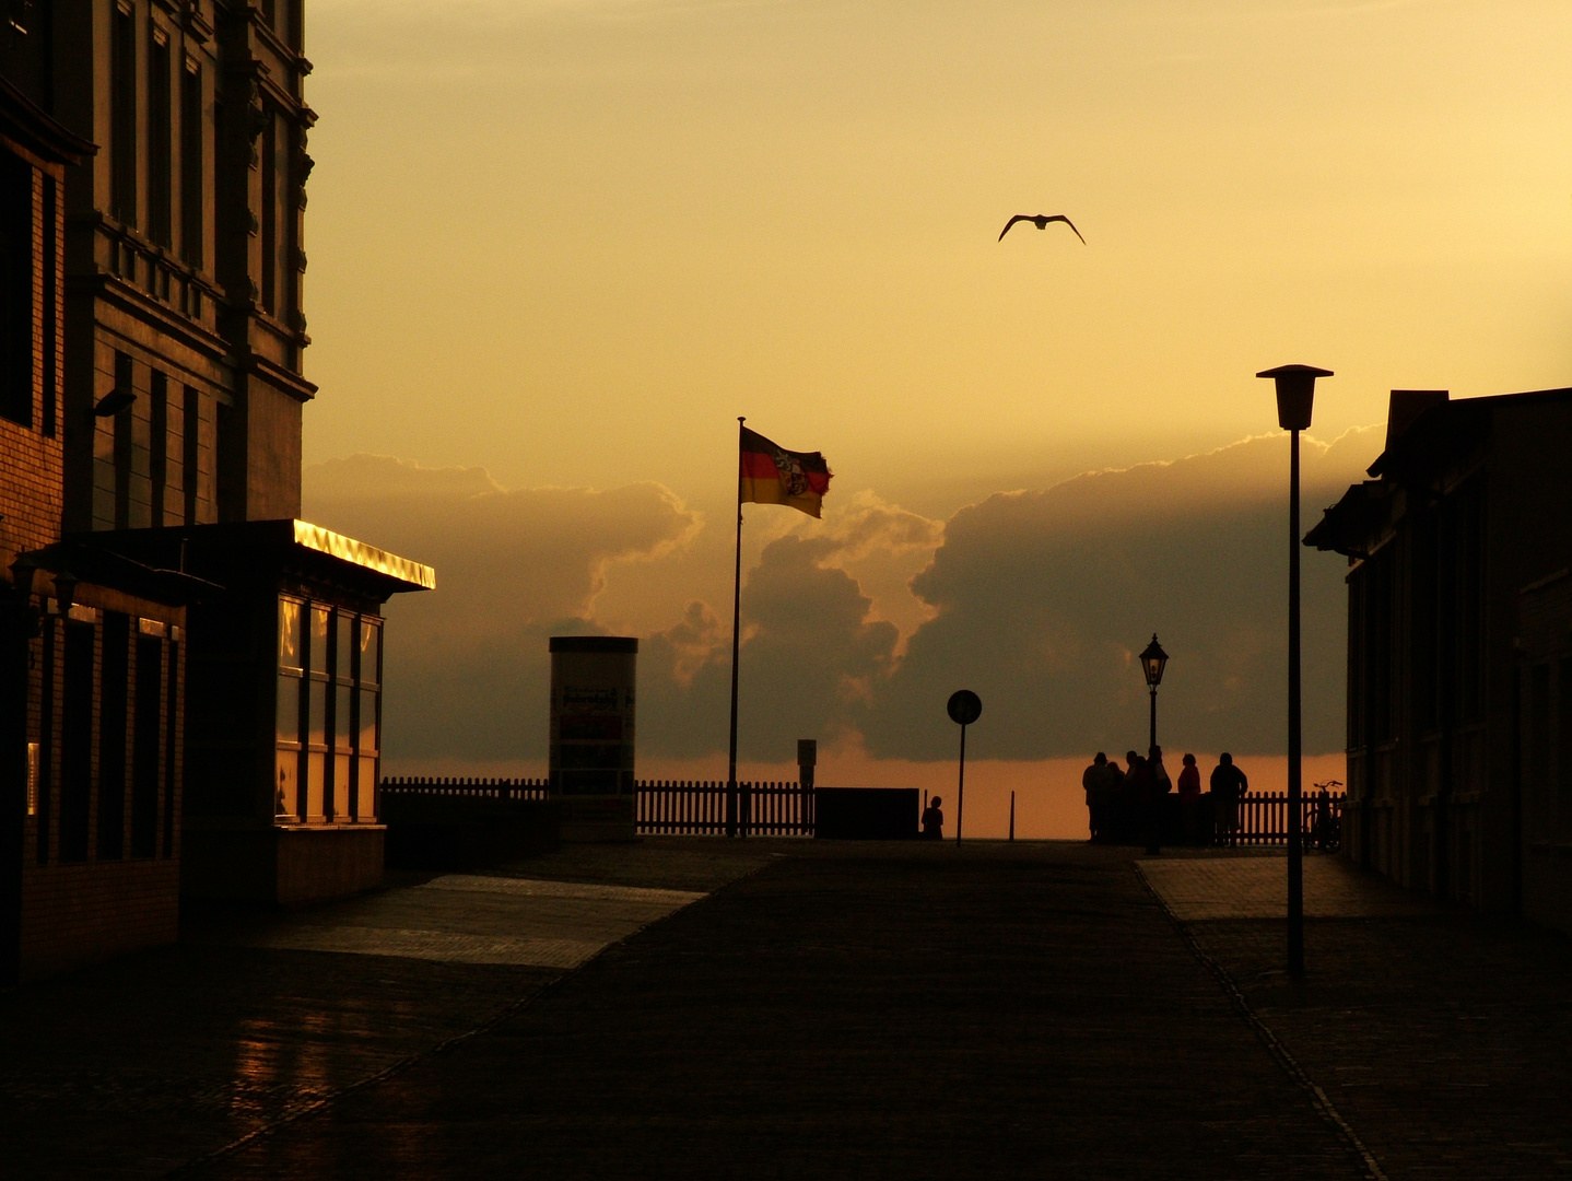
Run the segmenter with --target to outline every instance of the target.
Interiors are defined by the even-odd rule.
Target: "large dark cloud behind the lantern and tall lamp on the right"
[[[1305,442],[1303,525],[1380,450],[1374,431]],[[913,590],[935,618],[866,720],[882,756],[948,753],[943,701],[984,701],[994,756],[1047,758],[1144,745],[1135,653],[1151,634],[1173,656],[1159,741],[1267,752],[1286,709],[1284,436],[1171,464],[1077,476],[957,513]],[[1344,565],[1302,552],[1305,736],[1342,745]]]

